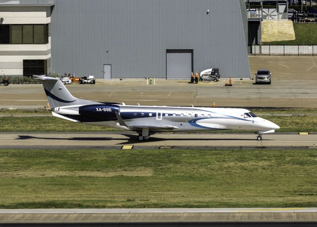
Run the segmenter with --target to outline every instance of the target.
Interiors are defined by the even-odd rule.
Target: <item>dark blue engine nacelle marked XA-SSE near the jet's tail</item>
[[[109,104],[95,104],[79,107],[79,114],[90,117],[103,118],[107,121],[117,120],[115,112],[119,112],[120,107]]]

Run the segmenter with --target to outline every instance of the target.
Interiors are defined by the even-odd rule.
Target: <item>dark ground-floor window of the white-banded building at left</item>
[[[47,75],[47,60],[23,60],[23,76]]]

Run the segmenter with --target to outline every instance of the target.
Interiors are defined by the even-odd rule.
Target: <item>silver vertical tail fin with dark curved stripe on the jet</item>
[[[53,78],[48,76],[34,76],[41,79],[43,87],[51,108],[69,106],[69,105],[84,105],[95,104],[96,102],[78,99],[71,95],[65,85],[59,78]]]

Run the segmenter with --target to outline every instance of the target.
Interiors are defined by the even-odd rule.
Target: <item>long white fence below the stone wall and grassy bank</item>
[[[317,55],[317,45],[252,45],[250,46],[251,55],[280,55],[280,56],[300,56]]]

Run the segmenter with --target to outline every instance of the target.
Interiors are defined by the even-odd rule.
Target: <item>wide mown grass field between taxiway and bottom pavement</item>
[[[317,207],[315,150],[1,150],[0,208]]]

